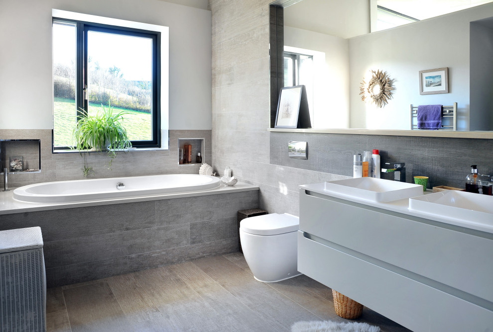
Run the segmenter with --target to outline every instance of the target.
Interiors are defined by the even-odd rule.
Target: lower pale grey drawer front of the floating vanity
[[[491,331],[493,311],[307,239],[298,270],[412,331]]]

